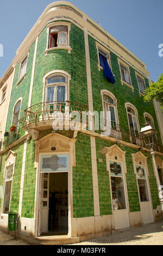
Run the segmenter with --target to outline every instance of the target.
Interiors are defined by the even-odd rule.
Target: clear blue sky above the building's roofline
[[[17,48],[34,26],[49,0],[1,0],[0,2],[0,77],[10,66]],[[54,1],[55,2],[55,1]],[[149,77],[155,81],[163,72],[162,0],[71,0],[91,19],[147,64]]]

